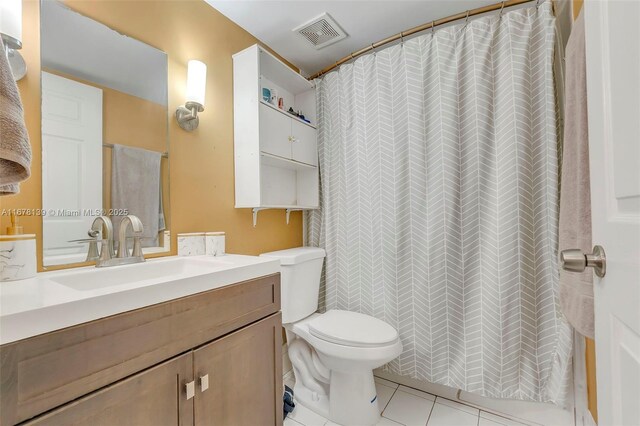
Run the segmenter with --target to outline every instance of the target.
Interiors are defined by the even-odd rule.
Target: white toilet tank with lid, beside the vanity
[[[280,260],[280,303],[283,324],[306,318],[318,309],[324,249],[297,247],[263,253],[260,256]]]

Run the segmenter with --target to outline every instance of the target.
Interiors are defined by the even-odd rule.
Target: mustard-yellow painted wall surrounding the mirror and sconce
[[[225,231],[227,251],[259,254],[302,244],[302,219],[284,211],[260,213],[253,228],[251,211],[234,209],[233,88],[231,55],[257,40],[202,0],[65,2],[71,8],[109,27],[163,50],[169,61],[169,140],[172,250],[178,232]],[[1,208],[40,208],[40,34],[39,2],[24,0],[23,50],[29,68],[19,82],[25,121],[33,148],[32,175],[21,193],[0,199]],[[206,110],[193,133],[180,129],[173,118],[184,103],[189,59],[207,64]],[[4,233],[8,217],[0,217]],[[40,217],[22,217],[25,232],[38,235],[38,264],[42,270]]]

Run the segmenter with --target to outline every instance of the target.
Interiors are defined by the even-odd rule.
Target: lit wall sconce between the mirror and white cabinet
[[[176,110],[178,124],[191,132],[198,128],[198,113],[204,111],[204,92],[207,86],[207,66],[191,60],[187,66],[187,100]]]

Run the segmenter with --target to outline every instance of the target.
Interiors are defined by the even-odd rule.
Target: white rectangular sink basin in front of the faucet
[[[178,257],[162,261],[148,261],[131,265],[95,268],[59,274],[51,281],[76,291],[93,291],[125,285],[149,285],[204,275],[232,266],[220,258],[192,259]]]

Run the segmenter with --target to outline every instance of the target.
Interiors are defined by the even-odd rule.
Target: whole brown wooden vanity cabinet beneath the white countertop
[[[282,424],[280,275],[0,346],[0,424]]]

